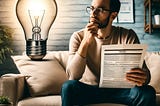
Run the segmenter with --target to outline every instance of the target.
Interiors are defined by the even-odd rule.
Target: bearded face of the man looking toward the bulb
[[[105,28],[110,18],[110,0],[93,0],[91,6],[94,11],[90,14],[90,22],[97,23],[99,28]],[[102,8],[104,11],[98,11],[96,8]]]

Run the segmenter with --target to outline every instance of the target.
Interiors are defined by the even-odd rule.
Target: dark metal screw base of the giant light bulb
[[[31,60],[42,60],[46,55],[46,40],[27,40],[26,54]]]

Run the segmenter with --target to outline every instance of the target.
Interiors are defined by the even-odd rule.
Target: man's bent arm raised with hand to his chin
[[[98,24],[91,22],[86,25],[81,36],[74,33],[71,37],[69,45],[71,54],[66,70],[70,80],[79,80],[82,77],[85,71],[88,47],[92,44],[97,31]]]

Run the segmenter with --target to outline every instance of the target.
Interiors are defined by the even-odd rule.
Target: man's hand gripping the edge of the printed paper
[[[142,86],[147,80],[147,72],[140,68],[133,68],[126,73],[126,79],[137,86]]]

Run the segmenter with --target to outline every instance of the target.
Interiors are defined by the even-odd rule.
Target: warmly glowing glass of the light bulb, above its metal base
[[[32,39],[32,29],[37,21],[41,28],[41,39],[46,40],[57,15],[55,0],[18,0],[17,4],[17,17],[24,29],[26,39]]]

